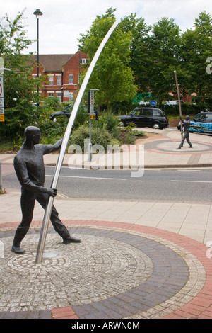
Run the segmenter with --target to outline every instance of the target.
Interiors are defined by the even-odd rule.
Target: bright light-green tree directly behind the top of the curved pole
[[[89,60],[93,59],[98,46],[115,21],[115,9],[107,9],[105,15],[97,16],[90,31],[81,34],[79,46],[86,52]],[[131,32],[118,26],[102,50],[100,58],[90,77],[88,89],[99,89],[95,101],[107,106],[114,101],[130,101],[136,94],[133,71],[129,67]]]

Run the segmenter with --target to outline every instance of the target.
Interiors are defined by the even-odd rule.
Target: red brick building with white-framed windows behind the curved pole
[[[33,60],[37,62],[37,55]],[[88,56],[80,51],[74,55],[39,55],[39,75],[47,77],[40,93],[45,97],[57,96],[61,102],[75,101],[79,75],[87,61]],[[32,75],[37,77],[36,66]]]

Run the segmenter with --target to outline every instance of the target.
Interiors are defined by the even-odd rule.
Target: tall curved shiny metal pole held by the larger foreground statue
[[[88,81],[90,79],[90,75],[93,72],[95,64],[98,61],[98,58],[99,58],[103,48],[105,47],[105,44],[107,43],[107,40],[110,38],[110,35],[112,35],[115,28],[117,28],[118,24],[119,23],[117,23],[117,22],[114,23],[113,26],[110,28],[110,30],[105,35],[105,38],[102,40],[102,43],[98,47],[98,50],[95,53],[95,56],[93,57],[92,62],[90,63],[90,66],[88,68],[88,72],[86,73],[86,77],[83,79],[83,84],[81,86],[80,91],[78,92],[78,96],[76,98],[76,101],[75,101],[74,106],[73,106],[73,110],[71,112],[71,116],[69,118],[69,123],[66,127],[66,132],[64,134],[64,140],[61,144],[61,149],[60,149],[60,154],[59,154],[58,161],[57,161],[57,166],[56,166],[56,169],[54,171],[54,177],[52,179],[52,186],[51,186],[52,188],[57,188],[59,174],[60,174],[61,166],[62,166],[62,163],[63,163],[63,160],[64,160],[66,147],[67,147],[68,142],[69,142],[69,137],[71,135],[71,130],[73,128],[73,123],[74,123],[74,120],[76,118],[76,114],[77,114],[77,111],[78,111],[78,107],[81,103],[81,99],[83,98],[83,94],[86,90],[86,86],[87,86]],[[39,239],[39,244],[38,244],[38,247],[37,247],[37,255],[36,255],[36,259],[35,259],[36,264],[40,264],[40,262],[42,261],[42,254],[43,254],[44,247],[45,247],[45,239],[47,237],[47,228],[48,228],[50,216],[52,214],[53,201],[54,201],[54,198],[52,196],[50,196],[49,201],[47,203],[47,208],[45,210],[45,215],[44,215],[44,218],[43,218],[43,221],[42,221],[42,228],[41,228],[41,231],[40,231],[40,239]]]

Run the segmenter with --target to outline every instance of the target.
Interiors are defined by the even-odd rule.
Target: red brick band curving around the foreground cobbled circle
[[[163,317],[162,319],[185,319],[185,318],[198,318],[198,319],[212,319],[212,261],[206,256],[206,245],[189,239],[182,235],[168,232],[166,230],[160,230],[153,227],[146,227],[142,225],[133,225],[124,222],[108,222],[108,221],[93,221],[93,220],[64,220],[65,225],[96,225],[102,227],[120,228],[132,231],[138,231],[154,235],[155,237],[161,237],[167,239],[170,242],[179,244],[189,252],[194,254],[196,258],[201,261],[206,271],[206,283],[204,288],[194,297],[187,305],[184,305],[179,310],[172,312],[170,315]],[[33,221],[33,225],[42,225],[42,221]],[[17,227],[18,223],[2,223],[1,228]],[[55,319],[78,319],[76,313],[71,307],[61,307],[59,309],[52,310],[52,317]]]

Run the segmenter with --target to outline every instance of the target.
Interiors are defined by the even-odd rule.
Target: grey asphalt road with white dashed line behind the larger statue
[[[50,186],[54,167],[46,167]],[[4,188],[19,188],[16,174],[3,176]],[[146,169],[132,177],[128,170],[62,168],[57,198],[185,201],[211,203],[212,169]]]

